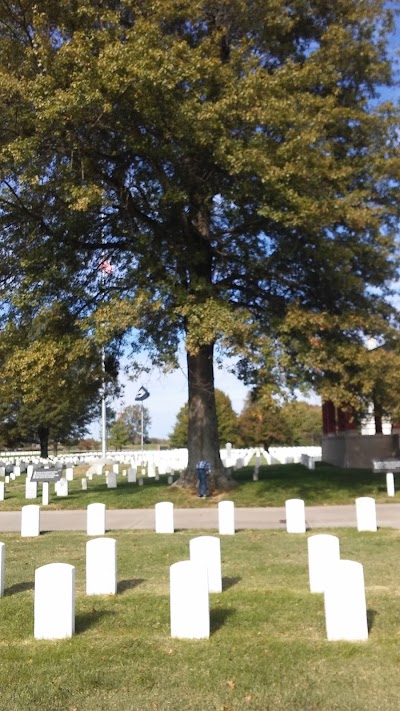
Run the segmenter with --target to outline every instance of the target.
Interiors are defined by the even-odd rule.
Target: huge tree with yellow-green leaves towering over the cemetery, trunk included
[[[333,334],[341,347],[390,321],[399,160],[397,117],[377,96],[391,79],[385,6],[0,3],[3,284],[71,298],[112,259],[98,323],[134,326],[164,362],[185,340],[189,483],[205,457],[228,484],[216,350],[249,379],[260,354],[280,379],[313,349],[315,333],[292,346],[302,320],[321,342],[318,314],[361,315],[363,328]]]

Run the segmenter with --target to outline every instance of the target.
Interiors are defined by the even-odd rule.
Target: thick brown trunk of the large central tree
[[[224,470],[219,454],[218,423],[214,392],[214,347],[202,346],[195,355],[187,354],[189,388],[189,461],[178,486],[197,485],[196,464],[206,459],[211,465],[209,490],[232,488],[233,480]]]

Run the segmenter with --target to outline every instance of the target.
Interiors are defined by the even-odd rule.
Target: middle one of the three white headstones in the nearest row
[[[210,608],[207,569],[190,560],[170,567],[171,637],[207,639]]]

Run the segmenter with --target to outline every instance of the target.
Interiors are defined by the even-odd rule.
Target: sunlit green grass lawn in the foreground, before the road
[[[326,531],[324,531],[326,533]],[[335,533],[335,531],[332,531]],[[222,537],[224,589],[209,640],[170,638],[169,566],[200,531],[124,531],[118,595],[86,597],[81,533],[3,534],[1,708],[7,711],[396,711],[400,694],[400,531],[341,529],[364,565],[368,642],[328,642],[308,585],[307,534]],[[315,533],[315,532],[314,532]],[[76,566],[76,634],[33,638],[34,570]]]

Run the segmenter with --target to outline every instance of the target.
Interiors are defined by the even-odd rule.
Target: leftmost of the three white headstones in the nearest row
[[[50,563],[35,571],[35,639],[64,639],[75,632],[75,568]]]

